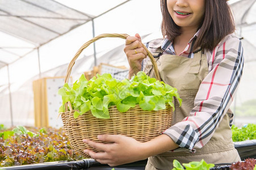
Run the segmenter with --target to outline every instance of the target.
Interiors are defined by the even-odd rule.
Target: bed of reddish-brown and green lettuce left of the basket
[[[79,159],[83,158],[72,150],[62,128],[17,126],[0,135],[0,167]]]

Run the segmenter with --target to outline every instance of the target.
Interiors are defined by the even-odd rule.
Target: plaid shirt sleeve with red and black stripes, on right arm
[[[244,66],[241,41],[228,35],[207,52],[209,73],[200,84],[194,108],[181,122],[165,130],[180,147],[202,148],[211,139],[228,111]]]

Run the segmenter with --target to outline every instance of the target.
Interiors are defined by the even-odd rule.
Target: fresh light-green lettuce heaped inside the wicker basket
[[[65,83],[58,90],[62,96],[59,112],[64,112],[64,104],[70,101],[75,110],[74,118],[91,111],[97,118],[110,118],[108,108],[116,105],[120,112],[139,104],[144,111],[160,111],[169,104],[174,109],[173,97],[182,103],[177,89],[150,78],[140,71],[131,80],[117,80],[111,74],[96,75],[89,81],[82,74],[73,86]]]

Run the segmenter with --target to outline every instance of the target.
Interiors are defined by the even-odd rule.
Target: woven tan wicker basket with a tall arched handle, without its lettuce
[[[69,63],[65,83],[68,82],[75,59],[77,59],[79,54],[81,54],[82,50],[94,41],[103,37],[119,37],[126,39],[128,35],[102,34],[83,44]],[[153,63],[157,79],[160,80],[155,59],[146,46],[144,44],[142,44],[142,46]],[[166,109],[162,111],[142,111],[139,105],[136,105],[135,108],[131,108],[125,113],[120,113],[115,106],[110,107],[108,110],[110,113],[110,119],[107,120],[94,117],[90,111],[75,119],[73,116],[75,111],[72,109],[71,104],[65,104],[65,112],[60,113],[61,119],[71,146],[79,154],[89,157],[89,155],[86,155],[83,150],[88,148],[90,150],[97,151],[95,148],[91,148],[89,145],[83,143],[82,139],[86,138],[95,142],[102,142],[97,138],[97,135],[99,134],[122,134],[127,135],[128,137],[133,137],[140,142],[149,141],[171,126],[173,112],[173,109],[169,104],[166,104]]]

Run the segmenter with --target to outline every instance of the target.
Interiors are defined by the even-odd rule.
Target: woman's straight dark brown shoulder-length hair
[[[161,0],[161,11],[163,17],[162,35],[173,40],[174,37],[181,34],[181,30],[171,18],[166,0]],[[226,35],[234,32],[232,12],[226,0],[205,0],[205,14],[199,28],[200,32],[193,46],[193,51],[198,48],[213,50]]]

